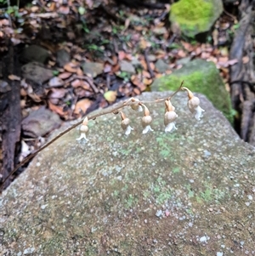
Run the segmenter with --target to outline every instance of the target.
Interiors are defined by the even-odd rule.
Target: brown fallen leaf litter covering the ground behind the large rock
[[[235,32],[236,19],[222,14],[209,43],[190,43],[169,30],[169,9],[169,4],[165,9],[132,9],[110,0],[56,0],[33,2],[18,9],[17,15],[1,18],[0,53],[7,53],[6,42],[11,39],[17,46],[35,44],[49,56],[36,66],[42,77],[40,94],[30,81],[34,67],[21,77],[8,77],[23,84],[23,117],[46,105],[45,110],[62,121],[81,118],[88,111],[150,90],[155,77],[196,58],[214,62],[228,82],[228,67],[237,61],[229,60],[228,50],[229,31]],[[25,134],[20,140],[20,159],[37,149],[33,140],[24,139]]]

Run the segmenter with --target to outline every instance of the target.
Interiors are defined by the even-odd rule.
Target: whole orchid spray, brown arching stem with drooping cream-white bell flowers
[[[104,116],[106,114],[120,114],[121,117],[121,127],[126,135],[131,134],[133,131],[133,128],[130,126],[130,119],[126,117],[124,111],[122,110],[123,108],[129,106],[133,109],[133,111],[139,111],[143,112],[144,116],[141,118],[141,124],[143,126],[143,134],[147,134],[149,132],[153,132],[153,129],[150,127],[150,124],[152,122],[152,117],[150,116],[150,111],[146,104],[150,103],[160,103],[164,102],[165,103],[165,116],[164,116],[164,123],[165,123],[165,132],[173,132],[174,130],[177,130],[175,126],[175,120],[178,117],[178,115],[175,112],[175,107],[171,103],[171,99],[175,94],[177,94],[179,91],[184,90],[187,92],[188,95],[188,107],[190,109],[190,112],[193,114],[196,120],[200,120],[202,117],[203,109],[200,106],[200,100],[199,98],[195,97],[194,94],[190,91],[189,88],[183,87],[184,81],[181,82],[179,88],[169,97],[165,99],[158,99],[154,101],[140,101],[139,99],[136,98],[131,98],[129,100],[126,100],[119,105],[116,105],[116,107],[111,108],[111,109],[106,109],[105,111],[100,111],[98,114],[91,115],[85,117],[82,121],[77,122],[76,124],[72,125],[70,128],[65,129],[64,132],[60,133],[57,135],[54,139],[50,140],[48,143],[43,145],[40,149],[32,153],[30,156],[27,156],[20,164],[12,170],[8,176],[3,180],[2,185],[0,186],[0,191],[3,189],[3,185],[8,178],[14,174],[22,165],[24,165],[26,162],[28,162],[32,157],[37,156],[37,153],[42,151],[43,149],[47,148],[48,145],[51,145],[55,140],[59,139],[62,137],[64,134],[70,132],[73,128],[77,128],[77,126],[81,125],[80,127],[80,137],[77,140],[80,139],[85,139],[86,141],[88,140],[87,134],[88,134],[88,122],[89,120],[94,120],[97,117]]]

